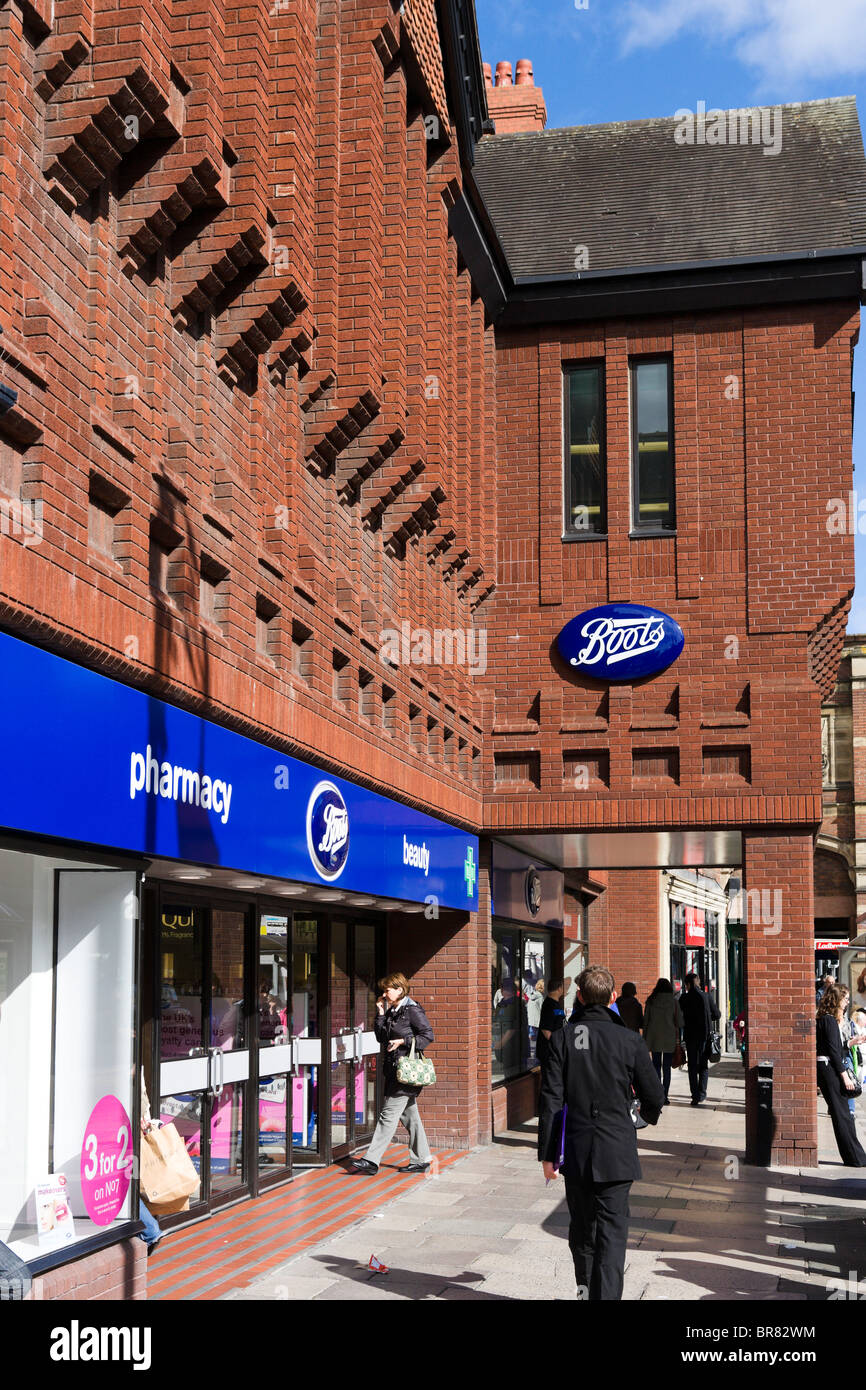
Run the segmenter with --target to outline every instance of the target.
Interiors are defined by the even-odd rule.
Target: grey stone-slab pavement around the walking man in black
[[[824,1112],[819,1101],[819,1169],[748,1168],[740,1062],[710,1069],[699,1109],[674,1073],[671,1105],[638,1136],[624,1297],[826,1300],[834,1279],[866,1282],[866,1169],[840,1163]],[[567,1225],[532,1122],[225,1297],[574,1300]],[[371,1255],[389,1273],[373,1273]]]

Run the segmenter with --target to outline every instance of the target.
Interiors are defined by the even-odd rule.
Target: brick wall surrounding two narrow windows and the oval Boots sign
[[[534,760],[539,785],[495,780],[488,753],[492,831],[820,821],[809,638],[853,582],[852,537],[827,534],[826,507],[849,486],[856,325],[856,306],[827,304],[499,335],[488,684],[498,759]],[[674,363],[677,535],[631,539],[628,357],[653,352]],[[605,363],[609,537],[563,543],[563,364],[582,359]],[[685,649],[605,689],[552,642],[614,599],[670,613]],[[580,752],[609,753],[607,784],[575,784]]]

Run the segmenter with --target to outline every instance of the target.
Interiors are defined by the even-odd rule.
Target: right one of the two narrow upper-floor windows
[[[673,531],[674,410],[670,357],[631,363],[631,524]]]

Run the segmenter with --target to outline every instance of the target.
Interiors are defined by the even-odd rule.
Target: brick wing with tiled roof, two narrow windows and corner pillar
[[[755,909],[748,1151],[755,1063],[771,1059],[774,1156],[808,1163],[816,735],[853,585],[851,535],[830,534],[827,517],[851,467],[859,292],[844,247],[860,234],[848,211],[823,221],[823,179],[835,175],[817,154],[822,132],[856,152],[858,179],[863,164],[852,103],[784,107],[781,121],[773,158],[756,145],[678,142],[676,120],[480,146],[514,282],[496,324],[502,563],[485,605],[485,826],[566,870],[610,872],[589,945],[641,994],[667,973],[646,870],[742,870]],[[648,367],[667,417],[644,431],[637,374]],[[569,392],[589,389],[592,442],[574,445],[588,413]],[[563,428],[595,468],[573,475],[571,492]],[[653,482],[639,450],[662,438],[667,473]],[[557,632],[612,602],[671,614],[685,634],[676,663],[612,685],[571,674]]]

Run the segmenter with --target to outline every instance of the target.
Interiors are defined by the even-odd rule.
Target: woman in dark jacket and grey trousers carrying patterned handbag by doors
[[[375,1036],[385,1048],[385,1101],[370,1141],[366,1158],[359,1158],[353,1172],[373,1176],[378,1173],[382,1154],[391,1144],[396,1127],[403,1122],[409,1130],[409,1163],[405,1173],[425,1173],[431,1163],[430,1144],[418,1115],[420,1086],[398,1081],[398,1061],[407,1056],[414,1038],[416,1055],[434,1040],[430,1020],[420,1004],[409,995],[405,974],[386,974],[379,981],[382,995],[377,999]]]

